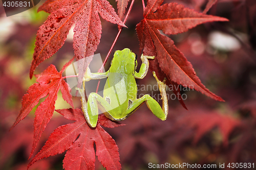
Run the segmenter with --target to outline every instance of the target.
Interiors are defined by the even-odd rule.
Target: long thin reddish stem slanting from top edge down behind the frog
[[[128,16],[130,15],[130,13],[131,13],[131,10],[132,10],[132,8],[133,8],[134,2],[135,2],[135,0],[132,0],[131,5],[130,5],[130,7],[129,7],[129,10],[127,11],[127,14],[126,14],[126,16],[125,16],[125,18],[124,18],[124,20],[123,20],[123,23],[124,23],[124,24],[125,24],[125,22],[127,21],[127,18],[128,18]],[[104,67],[104,65],[106,64],[106,61],[109,59],[110,54],[111,54],[111,52],[112,52],[112,50],[113,50],[113,48],[114,48],[114,46],[115,46],[115,44],[116,44],[116,41],[117,41],[117,39],[118,39],[118,37],[119,37],[119,35],[120,35],[122,29],[123,29],[123,27],[121,27],[120,30],[119,30],[119,32],[117,33],[116,38],[115,38],[115,40],[114,40],[114,42],[113,42],[113,44],[112,44],[112,46],[111,46],[111,48],[110,48],[110,51],[109,51],[109,53],[106,55],[106,58],[105,58],[105,60],[104,60],[104,62],[103,62],[103,64],[102,64],[102,66],[101,66],[100,69],[98,70],[98,72],[102,72],[103,67]],[[98,81],[96,93],[98,92],[98,89],[99,89],[99,83],[100,83],[100,80]]]

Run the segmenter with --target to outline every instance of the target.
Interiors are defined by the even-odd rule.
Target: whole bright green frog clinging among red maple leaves
[[[137,99],[137,84],[135,78],[143,79],[148,71],[148,60],[154,59],[153,56],[141,55],[142,65],[140,71],[136,72],[137,56],[130,49],[125,48],[122,51],[116,51],[111,62],[110,69],[106,72],[91,73],[88,67],[83,78],[83,89],[79,89],[81,94],[82,111],[88,124],[91,127],[96,127],[98,120],[98,107],[104,115],[111,120],[124,120],[134,113],[144,102],[147,107],[161,120],[165,120],[168,114],[168,101],[165,91],[165,80],[159,81],[155,72],[153,75],[156,78],[160,87],[160,92],[163,99],[163,107],[158,104],[150,95],[145,94],[142,98]],[[90,93],[88,103],[84,98],[84,82],[96,79],[106,80],[103,98],[97,93]]]

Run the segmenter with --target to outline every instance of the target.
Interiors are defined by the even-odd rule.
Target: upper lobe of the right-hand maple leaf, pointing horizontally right
[[[205,22],[228,21],[226,18],[198,13],[177,3],[164,4],[145,19],[148,24],[165,34],[183,33]]]

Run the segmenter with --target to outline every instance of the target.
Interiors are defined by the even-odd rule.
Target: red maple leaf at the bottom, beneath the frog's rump
[[[65,169],[94,169],[95,151],[101,164],[106,169],[121,169],[118,147],[114,139],[100,125],[108,128],[122,126],[104,115],[99,115],[96,128],[88,126],[80,109],[56,110],[65,118],[76,120],[73,124],[58,127],[50,135],[41,151],[31,160],[30,167],[37,160],[63,153],[68,150],[63,160]]]

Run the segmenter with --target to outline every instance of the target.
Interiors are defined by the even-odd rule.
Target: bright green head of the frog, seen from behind
[[[114,58],[111,61],[112,72],[125,72],[125,74],[134,73],[137,68],[137,55],[129,48],[122,51],[115,51]]]

